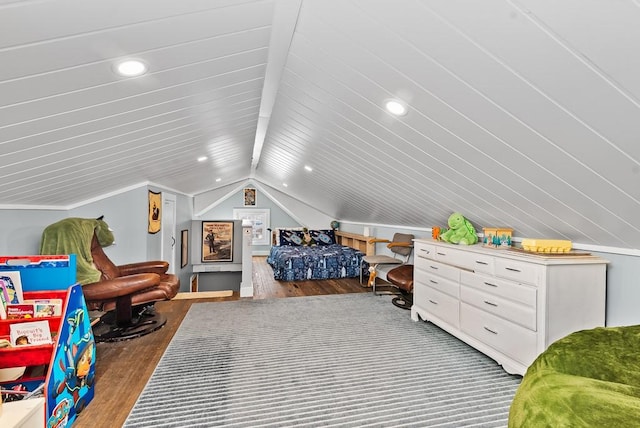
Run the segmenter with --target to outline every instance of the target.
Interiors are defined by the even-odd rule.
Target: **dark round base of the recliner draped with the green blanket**
[[[157,313],[151,307],[142,308],[131,322],[125,325],[118,325],[115,321],[114,311],[107,312],[100,318],[100,321],[92,327],[93,336],[96,342],[119,342],[122,340],[134,339],[144,336],[162,328],[167,318]]]

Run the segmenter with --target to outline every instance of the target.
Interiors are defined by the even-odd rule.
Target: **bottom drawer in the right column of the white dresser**
[[[524,366],[529,366],[538,356],[536,333],[466,303],[460,304],[460,327]]]

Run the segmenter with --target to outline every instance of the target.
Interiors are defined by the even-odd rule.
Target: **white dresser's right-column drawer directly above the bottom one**
[[[502,299],[466,285],[460,287],[460,299],[478,309],[536,331],[536,311],[530,306]]]

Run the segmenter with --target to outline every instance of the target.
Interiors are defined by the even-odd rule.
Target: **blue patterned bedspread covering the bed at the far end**
[[[338,244],[271,247],[267,263],[273,277],[283,281],[355,278],[364,253]],[[365,267],[366,268],[366,267]]]

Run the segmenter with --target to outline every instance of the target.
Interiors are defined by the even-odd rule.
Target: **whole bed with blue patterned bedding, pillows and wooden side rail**
[[[356,278],[362,257],[375,253],[371,237],[333,230],[276,229],[267,263],[282,281]]]

